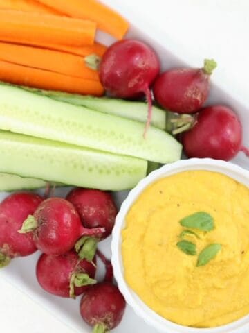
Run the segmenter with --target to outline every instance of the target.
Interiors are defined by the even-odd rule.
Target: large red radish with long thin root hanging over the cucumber
[[[149,89],[160,71],[158,56],[139,40],[120,40],[111,45],[100,62],[100,81],[112,96],[122,99],[145,94],[149,112],[145,134],[151,123],[152,97]]]

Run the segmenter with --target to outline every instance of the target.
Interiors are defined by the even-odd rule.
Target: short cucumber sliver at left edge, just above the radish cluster
[[[0,173],[0,191],[17,191],[21,189],[39,189],[47,182],[35,178],[23,178],[10,173]]]

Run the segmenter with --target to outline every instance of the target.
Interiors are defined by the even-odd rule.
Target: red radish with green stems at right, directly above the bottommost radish
[[[94,259],[95,263],[95,259]],[[41,287],[61,297],[79,296],[94,280],[96,272],[95,264],[79,260],[75,250],[64,255],[41,255],[37,262],[36,275]]]

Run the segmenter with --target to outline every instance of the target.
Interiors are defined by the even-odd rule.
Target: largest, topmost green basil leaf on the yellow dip
[[[195,228],[202,231],[214,229],[214,219],[206,212],[197,212],[181,219],[181,225],[186,228]]]

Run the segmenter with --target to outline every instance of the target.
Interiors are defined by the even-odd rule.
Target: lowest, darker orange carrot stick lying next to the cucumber
[[[43,69],[15,65],[3,60],[0,60],[0,80],[15,85],[77,94],[102,96],[104,93],[99,81],[74,78]]]

